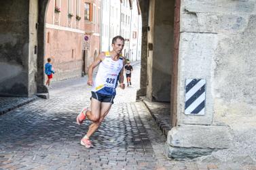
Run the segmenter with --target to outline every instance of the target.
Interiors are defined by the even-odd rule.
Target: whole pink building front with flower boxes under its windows
[[[44,58],[52,58],[53,81],[81,76],[84,33],[84,0],[49,1]]]

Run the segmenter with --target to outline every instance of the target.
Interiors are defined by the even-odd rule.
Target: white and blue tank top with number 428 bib
[[[122,56],[120,56],[119,60],[114,61],[112,60],[109,51],[105,52],[105,59],[101,61],[98,66],[98,72],[93,81],[92,91],[103,95],[115,95],[119,73],[123,67]]]

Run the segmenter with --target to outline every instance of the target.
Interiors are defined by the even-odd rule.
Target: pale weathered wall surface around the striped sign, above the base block
[[[255,1],[181,1],[179,124],[227,125],[255,113],[255,26]],[[187,78],[206,79],[204,116],[184,114]]]

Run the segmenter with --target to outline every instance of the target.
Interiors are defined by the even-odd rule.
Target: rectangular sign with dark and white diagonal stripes
[[[186,79],[185,114],[204,115],[206,79]]]

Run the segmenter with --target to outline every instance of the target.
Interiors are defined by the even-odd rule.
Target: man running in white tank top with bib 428
[[[92,121],[86,135],[81,139],[81,145],[86,148],[92,147],[90,136],[98,129],[100,123],[108,114],[115,98],[117,79],[120,87],[124,89],[124,64],[125,58],[121,56],[124,48],[124,38],[116,36],[112,39],[112,51],[102,52],[90,65],[88,70],[88,85],[92,85],[91,108],[84,108],[77,116],[77,124],[81,125],[86,117]],[[93,69],[98,66],[98,72],[92,81]]]

